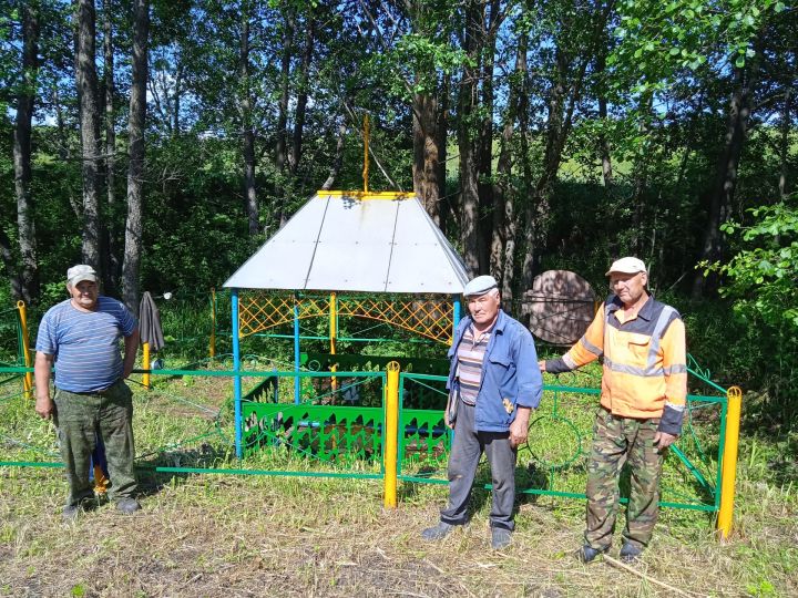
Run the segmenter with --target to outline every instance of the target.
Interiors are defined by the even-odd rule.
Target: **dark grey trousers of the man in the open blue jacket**
[[[514,529],[516,451],[510,446],[509,432],[474,432],[474,408],[460,402],[454,422],[454,442],[449,454],[449,503],[441,509],[441,520],[463,525],[468,520],[477,465],[488,455],[493,478],[491,527]]]

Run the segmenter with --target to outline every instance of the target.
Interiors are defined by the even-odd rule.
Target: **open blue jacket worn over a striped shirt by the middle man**
[[[449,349],[449,395],[458,398],[457,352],[463,332],[471,326],[471,317],[464,317],[454,331],[454,340]],[[479,432],[507,432],[515,419],[516,406],[535,409],[543,392],[543,377],[538,367],[538,353],[532,334],[521,322],[499,310],[491,333],[484,361],[482,362],[482,384],[477,395],[474,425]],[[504,404],[504,399],[512,405]],[[453,400],[450,400],[450,406]],[[451,411],[450,411],[451,413]],[[450,417],[454,421],[454,417]]]

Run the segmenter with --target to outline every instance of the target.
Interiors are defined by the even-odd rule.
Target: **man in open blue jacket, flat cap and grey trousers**
[[[502,311],[495,279],[474,278],[463,296],[470,316],[458,326],[449,350],[446,422],[454,430],[449,503],[438,525],[424,529],[421,537],[439,540],[466,524],[477,465],[485,453],[493,478],[491,546],[501,549],[510,545],[514,529],[516,451],[526,442],[543,379],[532,334]]]

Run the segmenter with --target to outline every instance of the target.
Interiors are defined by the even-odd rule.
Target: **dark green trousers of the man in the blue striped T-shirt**
[[[96,393],[55,389],[55,426],[69,482],[66,506],[94,496],[89,463],[98,434],[105,445],[111,487],[109,498],[131,497],[133,472],[133,393],[121,380]]]

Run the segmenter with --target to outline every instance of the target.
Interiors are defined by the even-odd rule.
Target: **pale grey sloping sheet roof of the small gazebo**
[[[460,293],[467,280],[415,194],[319,192],[224,286]]]

